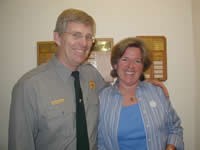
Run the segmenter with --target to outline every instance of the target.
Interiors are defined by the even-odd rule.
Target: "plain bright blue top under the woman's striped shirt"
[[[146,134],[138,104],[122,107],[118,141],[121,150],[147,149]]]

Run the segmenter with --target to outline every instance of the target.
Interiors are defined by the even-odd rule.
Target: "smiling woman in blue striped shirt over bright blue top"
[[[183,150],[181,121],[163,90],[140,81],[151,65],[137,38],[117,43],[111,54],[116,82],[100,93],[99,150]]]

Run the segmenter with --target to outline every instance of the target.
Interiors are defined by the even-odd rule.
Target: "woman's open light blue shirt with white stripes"
[[[99,95],[98,150],[120,149],[118,128],[123,97],[117,84],[105,88]],[[183,150],[181,120],[163,90],[140,82],[135,92],[144,123],[147,149],[164,150],[167,144],[173,144],[177,150]]]

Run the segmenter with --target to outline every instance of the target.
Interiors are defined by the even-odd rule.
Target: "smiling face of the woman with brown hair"
[[[114,67],[117,70],[120,84],[125,86],[137,85],[143,72],[143,60],[140,49],[128,47]]]

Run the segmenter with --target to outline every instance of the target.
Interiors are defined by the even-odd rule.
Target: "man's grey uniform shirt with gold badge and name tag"
[[[96,150],[98,92],[105,81],[92,65],[83,64],[78,71],[90,149]],[[71,72],[54,56],[17,82],[12,93],[9,150],[76,149],[76,103]]]

